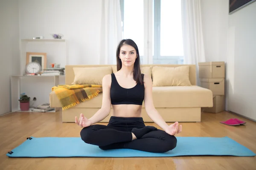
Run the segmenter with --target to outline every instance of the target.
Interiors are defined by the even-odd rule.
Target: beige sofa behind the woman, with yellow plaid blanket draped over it
[[[116,65],[66,65],[65,67],[65,84],[70,85],[75,78],[73,68],[95,68],[95,67],[111,67],[111,72],[116,72]],[[154,74],[154,67],[177,68],[184,65],[142,65],[144,74],[151,74],[153,79],[159,79],[161,75]],[[189,66],[189,81],[191,85],[187,86],[153,86],[154,106],[166,122],[201,122],[201,108],[212,107],[212,91],[196,85],[196,68],[195,65]],[[147,69],[144,69],[147,68]],[[149,69],[148,69],[149,68]],[[153,72],[152,72],[153,71]],[[105,73],[109,74],[109,73]],[[159,73],[158,73],[159,74]],[[168,74],[165,73],[165,74]],[[102,75],[102,73],[101,73]],[[95,77],[98,74],[94,75]],[[155,82],[154,82],[155,83]],[[53,108],[61,108],[61,104],[52,91],[49,94],[50,106]],[[96,111],[101,108],[102,94],[95,98],[80,103],[72,108],[62,111],[62,122],[74,122],[75,116],[84,113],[84,116],[90,118]],[[144,122],[152,122],[145,112],[144,102],[142,106],[142,116]],[[111,107],[112,112],[112,107]],[[111,113],[102,122],[108,122]]]

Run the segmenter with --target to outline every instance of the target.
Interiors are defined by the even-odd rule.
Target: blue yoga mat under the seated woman
[[[159,146],[161,147],[161,146]],[[229,137],[177,137],[177,147],[166,153],[140,150],[101,150],[80,137],[29,137],[6,154],[9,157],[171,157],[171,156],[256,156]]]

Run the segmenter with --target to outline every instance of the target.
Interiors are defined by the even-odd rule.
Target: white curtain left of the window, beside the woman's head
[[[122,40],[119,0],[102,0],[99,64],[116,64],[116,47]]]

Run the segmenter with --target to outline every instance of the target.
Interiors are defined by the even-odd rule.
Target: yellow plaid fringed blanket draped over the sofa
[[[62,110],[90,100],[102,93],[102,85],[58,85],[52,87],[61,102]]]

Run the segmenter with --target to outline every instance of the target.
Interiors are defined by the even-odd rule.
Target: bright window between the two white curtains
[[[141,63],[145,57],[144,44],[149,41],[152,42],[149,49],[152,56],[148,57],[153,64],[183,64],[181,0],[152,0],[148,8],[144,0],[120,0],[120,3],[123,38],[131,38],[137,43]],[[144,17],[145,11],[152,14],[152,18]],[[152,35],[148,37],[144,35],[145,20],[152,20]]]

